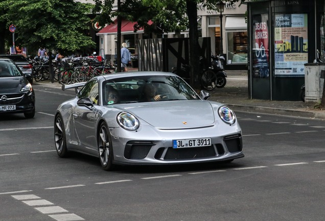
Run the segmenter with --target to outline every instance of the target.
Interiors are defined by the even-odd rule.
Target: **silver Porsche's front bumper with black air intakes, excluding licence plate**
[[[115,164],[183,164],[244,157],[239,125],[177,130],[153,129],[148,126],[136,132],[122,128],[114,128],[110,132]],[[212,145],[173,148],[173,140],[197,138],[211,138]]]

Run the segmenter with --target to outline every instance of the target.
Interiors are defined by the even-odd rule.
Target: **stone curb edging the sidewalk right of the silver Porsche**
[[[296,111],[294,109],[249,106],[249,105],[240,105],[240,104],[226,104],[226,103],[225,105],[229,106],[231,109],[234,109],[234,111],[325,119],[325,112],[318,113],[318,112],[308,112],[308,111]]]

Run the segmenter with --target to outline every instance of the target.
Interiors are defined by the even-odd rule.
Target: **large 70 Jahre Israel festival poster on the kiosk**
[[[275,75],[305,75],[308,62],[307,14],[276,14]]]

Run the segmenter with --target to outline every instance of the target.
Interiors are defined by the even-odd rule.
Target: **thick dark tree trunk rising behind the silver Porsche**
[[[200,46],[197,31],[197,4],[194,0],[186,0],[190,25],[190,84],[194,89],[200,89]]]

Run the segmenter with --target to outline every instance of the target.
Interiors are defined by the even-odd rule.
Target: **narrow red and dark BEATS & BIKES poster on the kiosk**
[[[253,77],[269,77],[268,15],[253,16]]]

